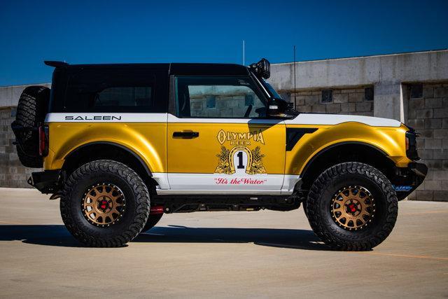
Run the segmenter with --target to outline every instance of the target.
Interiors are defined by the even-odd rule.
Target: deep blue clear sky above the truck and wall
[[[321,60],[448,48],[448,1],[0,1],[0,86],[78,63]]]

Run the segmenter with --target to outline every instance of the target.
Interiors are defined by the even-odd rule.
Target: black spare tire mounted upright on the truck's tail
[[[29,86],[20,95],[15,121],[12,123],[17,140],[19,160],[25,167],[40,168],[43,158],[39,155],[37,127],[45,120],[50,100],[50,88]]]

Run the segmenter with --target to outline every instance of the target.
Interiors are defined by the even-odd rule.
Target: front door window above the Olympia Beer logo
[[[176,77],[177,116],[262,118],[266,106],[246,77]]]

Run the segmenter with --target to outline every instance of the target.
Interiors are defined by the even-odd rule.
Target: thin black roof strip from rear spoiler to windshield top
[[[68,64],[45,61],[50,67],[61,69],[166,69],[170,75],[247,75],[248,68],[241,64],[219,63],[131,63],[131,64]]]

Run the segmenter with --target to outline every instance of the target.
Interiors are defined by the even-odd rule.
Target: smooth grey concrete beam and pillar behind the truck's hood
[[[294,90],[293,63],[272,64],[269,83]],[[374,86],[374,116],[405,121],[402,83],[448,80],[448,50],[296,62],[299,90]]]

